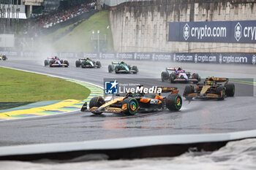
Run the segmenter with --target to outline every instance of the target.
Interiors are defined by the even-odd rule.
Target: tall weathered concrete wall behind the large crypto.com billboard
[[[254,0],[155,0],[110,7],[117,52],[255,53],[256,44],[167,42],[168,22],[256,20]]]

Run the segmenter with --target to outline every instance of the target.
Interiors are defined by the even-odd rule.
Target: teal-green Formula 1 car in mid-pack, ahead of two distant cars
[[[116,72],[118,73],[133,73],[137,74],[139,72],[137,66],[130,66],[124,61],[113,61],[111,65],[108,65],[108,72]]]

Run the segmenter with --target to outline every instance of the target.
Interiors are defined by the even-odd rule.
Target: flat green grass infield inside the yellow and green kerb
[[[45,75],[0,67],[0,102],[83,100],[91,93],[82,85]]]

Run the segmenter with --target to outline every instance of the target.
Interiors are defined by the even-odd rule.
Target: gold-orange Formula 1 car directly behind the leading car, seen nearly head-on
[[[225,83],[221,83],[225,82]],[[228,83],[227,78],[210,76],[202,84],[187,85],[183,96],[189,100],[192,98],[217,98],[223,100],[227,96],[234,96],[235,85]]]

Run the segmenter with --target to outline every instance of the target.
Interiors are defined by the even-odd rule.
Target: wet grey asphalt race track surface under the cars
[[[42,61],[10,58],[0,66],[53,74],[103,85],[104,78],[159,78],[166,66],[182,66],[187,71],[214,77],[254,78],[255,66],[230,66],[195,63],[154,63],[127,61],[138,65],[138,74],[109,74],[110,61],[102,61],[102,69],[75,68],[75,60],[69,68],[49,68]],[[151,82],[145,82],[150,85]],[[170,85],[170,82],[155,82],[154,85]],[[183,93],[184,86],[177,86]],[[256,128],[255,91],[252,85],[235,82],[236,96],[224,101],[195,100],[183,102],[180,112],[154,112],[125,116],[116,114],[91,115],[73,112],[67,115],[10,120],[0,123],[0,146],[45,142],[75,142],[93,139],[112,139],[129,136],[167,134],[205,134],[244,131]],[[254,96],[252,95],[254,94]]]

